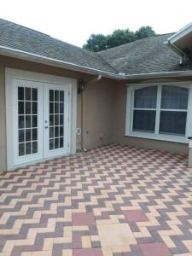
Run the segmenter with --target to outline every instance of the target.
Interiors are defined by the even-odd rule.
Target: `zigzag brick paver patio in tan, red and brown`
[[[192,169],[111,145],[0,174],[0,256],[192,255]]]

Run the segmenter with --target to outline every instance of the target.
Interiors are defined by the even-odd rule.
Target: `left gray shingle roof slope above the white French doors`
[[[0,45],[115,73],[113,67],[95,53],[2,19],[0,19]]]

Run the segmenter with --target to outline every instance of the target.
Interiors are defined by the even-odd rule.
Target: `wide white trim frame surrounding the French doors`
[[[34,73],[31,71],[23,71],[13,68],[5,68],[5,99],[6,99],[6,135],[7,135],[7,168],[13,169],[20,165],[14,165],[14,127],[13,127],[13,97],[14,97],[14,79],[34,81],[44,84],[60,84],[68,85],[68,115],[69,115],[69,131],[68,140],[69,148],[68,154],[76,152],[76,125],[77,125],[77,80],[66,77],[59,77],[44,73]],[[59,156],[59,155],[58,155]],[[32,161],[33,162],[33,161]],[[29,165],[27,162],[23,165]]]

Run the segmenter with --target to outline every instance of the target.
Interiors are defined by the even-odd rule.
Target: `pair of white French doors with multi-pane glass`
[[[67,154],[68,85],[14,80],[14,165]]]

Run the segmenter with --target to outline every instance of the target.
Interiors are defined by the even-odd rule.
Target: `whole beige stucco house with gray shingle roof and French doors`
[[[0,20],[0,171],[109,143],[189,154],[192,24],[92,53]]]

